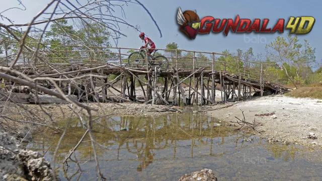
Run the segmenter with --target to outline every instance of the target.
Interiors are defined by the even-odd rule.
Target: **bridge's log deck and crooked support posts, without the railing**
[[[47,66],[38,66],[37,71],[32,67],[24,66],[18,67],[18,70],[23,71],[30,78],[39,79],[39,83],[49,88],[53,88],[54,85],[46,81],[46,78],[56,79],[59,88],[66,95],[76,95],[79,101],[205,105],[218,103],[215,101],[215,92],[218,90],[223,92],[221,103],[245,100],[254,95],[289,91],[276,83],[251,80],[242,75],[229,74],[227,71],[205,70],[205,67],[197,70],[175,67],[162,69],[156,66],[131,67],[111,63],[63,63],[55,66],[59,67],[59,72],[54,68],[48,71]],[[39,74],[39,72],[43,73]],[[11,74],[17,76],[17,73]],[[82,75],[85,76],[82,81],[64,83],[68,78]],[[116,78],[108,81],[111,75]],[[163,84],[162,90],[158,89],[160,84]],[[186,88],[185,91],[183,87],[189,87],[189,90]],[[111,89],[116,91],[116,94],[108,95]],[[138,89],[142,91],[143,98],[136,97]]]

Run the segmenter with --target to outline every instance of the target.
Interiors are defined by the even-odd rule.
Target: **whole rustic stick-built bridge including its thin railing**
[[[182,100],[185,105],[204,105],[216,103],[216,90],[222,91],[222,102],[288,91],[272,83],[276,82],[278,73],[276,64],[251,62],[220,53],[159,49],[156,54],[166,55],[170,63],[165,69],[150,66],[147,62],[154,60],[148,60],[147,56],[139,58],[145,61],[143,65],[135,63],[137,61],[128,57],[133,52],[129,48],[55,47],[44,48],[38,57],[23,52],[23,58],[18,60],[20,65],[15,68],[38,79],[39,85],[47,88],[54,87],[49,81],[54,79],[65,94],[74,94],[83,101],[178,105]],[[179,56],[179,52],[187,54]],[[10,61],[7,58],[7,63]],[[5,70],[8,69],[3,67],[2,71]],[[19,76],[17,71],[9,72],[14,77]],[[1,78],[30,85],[12,76]],[[137,96],[138,92],[141,97]]]

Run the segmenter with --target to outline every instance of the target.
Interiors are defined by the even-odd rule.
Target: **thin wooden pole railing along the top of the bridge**
[[[9,42],[18,44],[18,42]],[[41,64],[47,63],[83,63],[83,64],[106,64],[113,63],[117,65],[128,65],[128,58],[132,52],[139,51],[138,48],[123,47],[96,47],[85,45],[57,45],[57,44],[40,44],[40,49],[35,56],[37,48],[36,42],[28,42],[27,46],[31,50],[23,49],[22,56],[18,60],[19,64]],[[146,54],[144,59],[146,60]],[[153,54],[153,53],[152,53]],[[169,60],[170,66],[181,69],[197,70],[204,67],[205,70],[227,72],[235,74],[238,78],[246,78],[253,81],[277,82],[278,66],[274,63],[264,63],[248,61],[239,57],[226,55],[216,52],[190,51],[183,49],[157,49],[154,56],[164,55]],[[16,58],[16,52],[0,57],[0,63],[10,65]],[[152,61],[152,60],[150,60]],[[145,61],[146,62],[146,61]],[[133,65],[133,64],[131,64]],[[146,66],[143,66],[146,67]],[[240,76],[240,77],[239,77]]]

